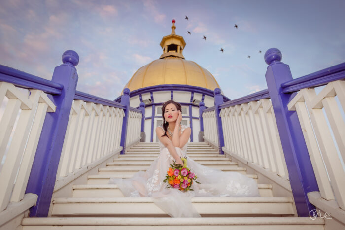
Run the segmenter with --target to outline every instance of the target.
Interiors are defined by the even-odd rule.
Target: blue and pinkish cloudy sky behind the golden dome
[[[159,59],[172,19],[186,41],[185,59],[210,71],[230,99],[267,88],[269,48],[281,51],[293,78],[345,61],[345,0],[0,3],[1,65],[50,80],[63,52],[72,49],[80,57],[77,90],[111,100],[138,68]]]

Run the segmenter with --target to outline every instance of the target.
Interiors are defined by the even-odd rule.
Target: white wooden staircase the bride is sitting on
[[[129,178],[145,170],[158,153],[157,143],[138,143],[98,175],[89,175],[87,184],[74,185],[72,197],[55,198],[51,217],[24,218],[18,230],[324,230],[322,218],[294,217],[292,197],[273,197],[270,184],[258,184],[261,197],[194,197],[201,218],[171,218],[150,197],[123,197],[117,185],[108,184],[111,177]],[[207,143],[188,143],[187,154],[200,164],[257,180]]]

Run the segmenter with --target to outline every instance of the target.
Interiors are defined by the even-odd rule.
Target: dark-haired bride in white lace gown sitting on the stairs
[[[192,205],[192,197],[260,197],[256,181],[239,172],[223,172],[209,168],[188,158],[187,142],[191,129],[181,123],[181,105],[169,100],[163,104],[163,124],[156,128],[160,152],[146,171],[139,171],[132,178],[111,178],[125,197],[152,197],[153,202],[172,217],[200,217]],[[163,182],[170,164],[187,165],[198,177],[194,191],[182,192],[167,188]]]

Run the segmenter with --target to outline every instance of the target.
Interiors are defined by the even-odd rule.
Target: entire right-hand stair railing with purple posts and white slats
[[[205,118],[218,107],[220,149],[257,171],[286,177],[299,216],[309,216],[317,206],[343,222],[345,63],[292,79],[281,57],[275,48],[265,53],[267,90],[223,104],[215,101],[215,108],[204,110],[204,136],[214,136],[214,129],[205,127],[217,117]],[[314,88],[324,85],[316,94]]]

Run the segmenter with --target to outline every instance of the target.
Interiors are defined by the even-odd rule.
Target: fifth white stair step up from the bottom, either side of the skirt
[[[246,168],[244,167],[238,167],[237,165],[210,165],[210,168],[222,170],[222,171],[234,171],[234,172],[239,172],[242,174],[246,173]],[[133,166],[128,166],[128,165],[119,165],[119,166],[108,166],[105,168],[99,168],[98,169],[98,174],[116,174],[117,172],[122,172],[122,173],[134,173],[137,171],[145,171],[146,169],[149,168],[149,165],[133,165]]]

